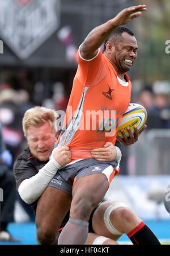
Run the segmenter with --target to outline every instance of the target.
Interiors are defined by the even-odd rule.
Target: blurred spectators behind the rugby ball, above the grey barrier
[[[151,129],[170,129],[170,84],[168,81],[155,81],[152,85],[141,85],[139,81],[133,84],[133,100],[131,102],[141,104],[147,110],[147,133]],[[118,144],[122,151],[121,172],[128,175],[129,151]]]

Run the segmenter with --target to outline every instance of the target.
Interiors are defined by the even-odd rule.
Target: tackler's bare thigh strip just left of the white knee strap
[[[104,214],[105,214],[105,210],[110,206],[110,205],[116,205],[117,202],[116,201],[106,201],[104,203],[101,203],[99,205],[99,207],[96,208],[93,217],[92,217],[92,228],[94,230],[94,232],[100,236],[105,236],[108,238],[111,238],[115,241],[118,240],[118,238],[121,237],[120,235],[117,234],[113,234],[111,233],[107,226],[105,225],[104,222]]]

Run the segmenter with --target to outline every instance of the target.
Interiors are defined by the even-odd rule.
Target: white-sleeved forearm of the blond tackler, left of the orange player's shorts
[[[18,188],[22,200],[27,204],[32,204],[39,199],[60,167],[60,164],[52,158],[35,176],[23,180]]]

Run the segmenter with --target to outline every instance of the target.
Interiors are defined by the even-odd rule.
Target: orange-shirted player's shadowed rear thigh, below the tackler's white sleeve
[[[47,187],[42,193],[36,210],[36,225],[51,225],[59,228],[70,209],[71,196],[54,187]]]

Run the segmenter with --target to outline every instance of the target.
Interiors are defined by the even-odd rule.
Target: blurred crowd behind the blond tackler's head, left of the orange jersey
[[[26,84],[29,84],[29,81]],[[67,106],[62,82],[54,82],[50,98],[45,97],[45,85],[41,81],[35,83],[32,92],[27,88],[14,88],[15,86],[8,83],[0,84],[0,122],[3,140],[12,154],[12,164],[25,148],[26,142],[22,131],[22,118],[25,111],[36,105],[58,110],[65,110]]]

